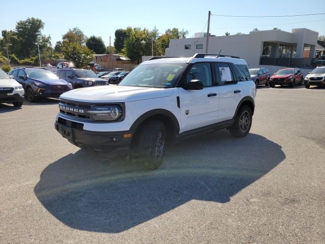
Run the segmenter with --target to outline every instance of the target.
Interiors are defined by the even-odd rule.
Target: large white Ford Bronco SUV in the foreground
[[[116,86],[62,94],[55,129],[81,148],[131,149],[144,167],[155,169],[167,142],[218,129],[246,136],[255,93],[238,57],[151,58]]]

